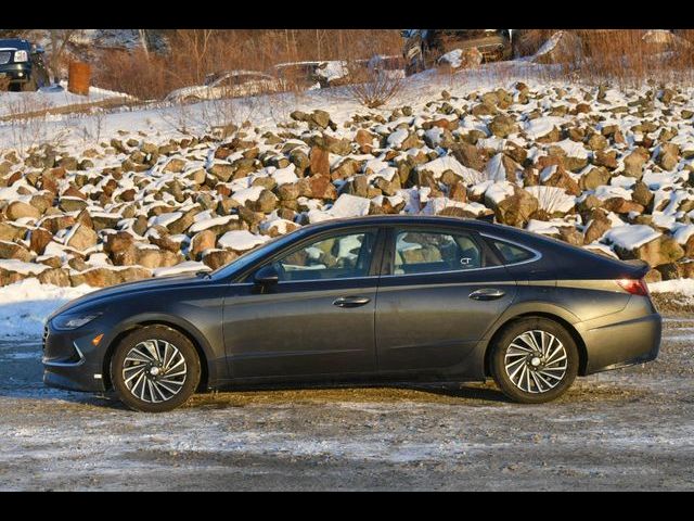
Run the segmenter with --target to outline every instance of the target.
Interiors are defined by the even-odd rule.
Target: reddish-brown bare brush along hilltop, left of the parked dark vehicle
[[[374,29],[170,29],[165,54],[108,50],[101,53],[94,80],[101,87],[141,99],[200,85],[208,74],[229,69],[274,74],[279,63],[399,55],[397,30]],[[297,65],[298,66],[298,65]],[[287,88],[308,88],[305,74]],[[300,84],[300,87],[295,87]]]

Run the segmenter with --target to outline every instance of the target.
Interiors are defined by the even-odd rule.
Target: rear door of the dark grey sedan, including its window
[[[378,370],[464,372],[516,283],[472,231],[393,227],[376,305]]]

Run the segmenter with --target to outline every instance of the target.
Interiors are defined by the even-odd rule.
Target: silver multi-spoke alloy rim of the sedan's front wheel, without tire
[[[150,404],[176,396],[188,377],[188,366],[181,352],[165,340],[145,340],[125,357],[123,380],[130,393]]]

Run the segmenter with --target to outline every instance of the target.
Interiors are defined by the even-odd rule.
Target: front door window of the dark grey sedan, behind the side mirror
[[[375,232],[320,239],[275,260],[279,280],[323,280],[369,275]]]

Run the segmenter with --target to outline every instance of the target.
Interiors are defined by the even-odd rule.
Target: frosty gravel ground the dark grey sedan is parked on
[[[694,318],[654,363],[542,406],[492,384],[196,396],[166,415],[43,387],[0,344],[0,490],[694,490]]]

